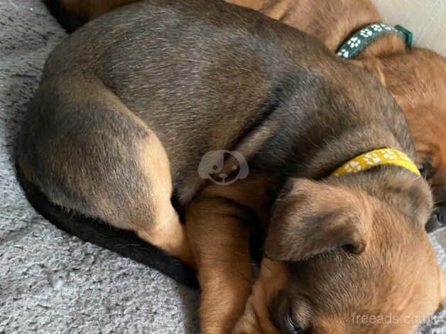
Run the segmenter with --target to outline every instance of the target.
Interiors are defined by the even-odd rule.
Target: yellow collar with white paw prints
[[[407,168],[409,171],[420,175],[415,163],[410,160],[406,153],[398,151],[396,149],[378,149],[370,151],[352,160],[347,161],[342,166],[337,168],[336,171],[330,174],[330,176],[339,176],[342,174],[366,171],[367,169],[374,168],[379,165],[395,165]]]

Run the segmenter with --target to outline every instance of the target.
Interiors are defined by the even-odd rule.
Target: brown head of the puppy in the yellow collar
[[[423,224],[339,183],[295,179],[264,254],[275,265],[262,268],[236,333],[410,333],[445,298]]]

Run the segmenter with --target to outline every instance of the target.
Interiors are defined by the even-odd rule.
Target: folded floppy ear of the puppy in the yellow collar
[[[366,247],[371,208],[364,195],[342,185],[294,179],[276,201],[264,254],[277,261],[300,261],[345,247]]]

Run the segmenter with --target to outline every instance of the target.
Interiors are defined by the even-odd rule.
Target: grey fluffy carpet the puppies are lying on
[[[0,333],[196,333],[195,291],[57,230],[16,182],[18,124],[64,36],[40,0],[0,0]],[[446,333],[445,315],[422,333]]]

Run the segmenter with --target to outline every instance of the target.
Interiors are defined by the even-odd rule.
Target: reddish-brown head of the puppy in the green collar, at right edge
[[[416,162],[433,188],[435,211],[426,227],[430,231],[446,225],[446,58],[415,49],[355,63],[374,73],[403,109]]]

